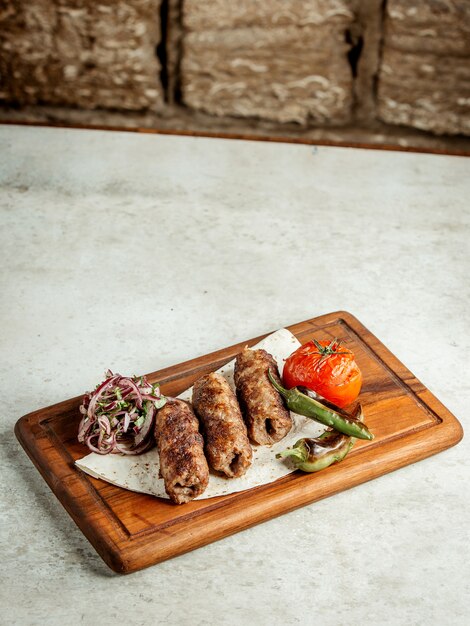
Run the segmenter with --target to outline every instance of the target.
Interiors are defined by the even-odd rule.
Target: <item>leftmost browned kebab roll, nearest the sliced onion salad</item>
[[[157,413],[155,426],[160,475],[173,502],[184,504],[200,496],[209,482],[204,439],[191,405],[168,401]]]

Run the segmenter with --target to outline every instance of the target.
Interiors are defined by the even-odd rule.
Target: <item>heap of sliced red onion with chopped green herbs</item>
[[[154,444],[155,414],[166,398],[145,376],[105,373],[106,379],[86,393],[78,441],[98,454],[141,454]]]

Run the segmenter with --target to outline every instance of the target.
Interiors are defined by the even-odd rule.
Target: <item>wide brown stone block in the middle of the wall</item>
[[[215,115],[346,123],[351,4],[334,0],[185,0],[185,104]]]

